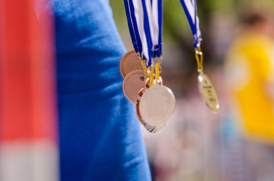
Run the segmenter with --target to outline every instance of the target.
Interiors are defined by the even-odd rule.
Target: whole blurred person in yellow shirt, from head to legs
[[[268,15],[251,14],[224,63],[233,117],[244,140],[244,180],[274,180],[273,28]]]

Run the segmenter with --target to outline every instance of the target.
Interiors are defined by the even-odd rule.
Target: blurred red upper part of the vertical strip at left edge
[[[34,2],[2,0],[1,140],[56,137],[53,17]]]

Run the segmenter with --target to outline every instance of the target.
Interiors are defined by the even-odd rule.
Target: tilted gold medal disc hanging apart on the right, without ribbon
[[[204,73],[200,73],[198,76],[198,88],[205,104],[207,104],[213,112],[218,112],[220,104],[216,89],[210,78]]]

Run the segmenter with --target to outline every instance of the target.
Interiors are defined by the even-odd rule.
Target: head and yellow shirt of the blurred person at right
[[[245,136],[274,143],[274,41],[268,19],[254,14],[225,61],[229,91],[238,105]]]

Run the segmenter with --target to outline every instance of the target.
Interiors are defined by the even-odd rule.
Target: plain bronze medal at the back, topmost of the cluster
[[[143,66],[140,59],[136,56],[134,50],[126,52],[120,61],[120,72],[124,78],[128,73],[133,70],[143,70]]]

